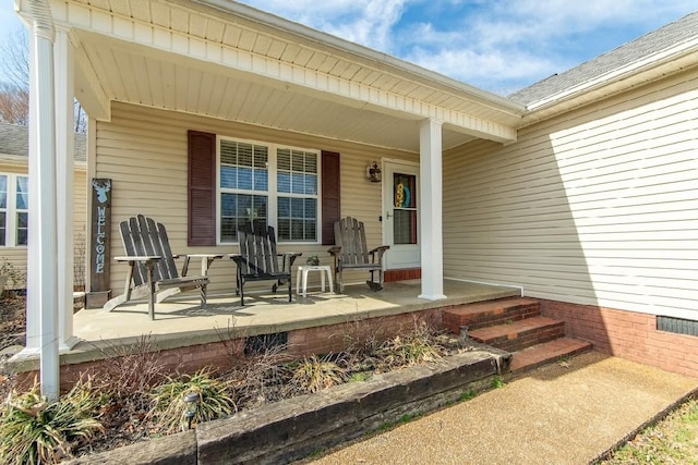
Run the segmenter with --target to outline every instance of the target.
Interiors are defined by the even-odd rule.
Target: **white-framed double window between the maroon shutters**
[[[279,242],[317,242],[320,152],[218,139],[219,242],[273,225]]]

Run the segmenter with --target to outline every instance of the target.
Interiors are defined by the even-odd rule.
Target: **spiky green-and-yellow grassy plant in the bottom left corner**
[[[55,464],[103,430],[95,418],[101,402],[89,381],[77,382],[56,402],[34,387],[13,392],[0,411],[0,457],[14,464]]]

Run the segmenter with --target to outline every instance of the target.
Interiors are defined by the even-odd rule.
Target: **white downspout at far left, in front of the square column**
[[[29,170],[29,197],[35,200],[29,210],[29,254],[27,292],[32,295],[27,313],[40,315],[40,382],[41,393],[49,399],[59,394],[58,355],[58,261],[56,233],[56,109],[53,88],[53,22],[48,3],[29,2],[34,19],[32,27],[32,96],[29,126],[35,148],[34,168]],[[37,208],[38,207],[38,208]],[[35,330],[28,331],[35,333]]]

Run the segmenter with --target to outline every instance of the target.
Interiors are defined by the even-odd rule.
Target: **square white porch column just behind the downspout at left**
[[[73,189],[74,189],[74,83],[73,47],[67,30],[56,32],[56,187],[58,221],[58,341],[61,350],[76,344],[73,338]]]

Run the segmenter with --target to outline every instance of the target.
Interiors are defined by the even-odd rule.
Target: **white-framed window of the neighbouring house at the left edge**
[[[25,246],[28,240],[29,179],[0,174],[0,246]]]

